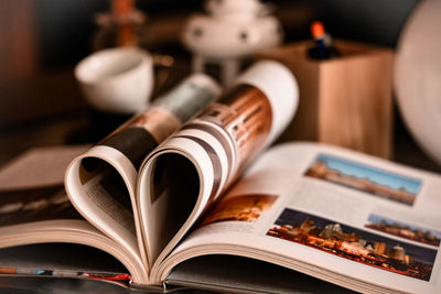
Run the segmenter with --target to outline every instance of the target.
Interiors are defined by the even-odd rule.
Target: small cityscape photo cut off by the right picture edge
[[[434,247],[440,246],[441,232],[423,229],[417,226],[399,222],[389,218],[370,215],[367,219],[366,228],[383,231],[416,242],[421,242]]]

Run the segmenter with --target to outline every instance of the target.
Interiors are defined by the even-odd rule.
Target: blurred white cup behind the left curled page
[[[135,113],[146,108],[153,88],[153,58],[138,47],[96,52],[75,67],[87,101],[96,109]]]

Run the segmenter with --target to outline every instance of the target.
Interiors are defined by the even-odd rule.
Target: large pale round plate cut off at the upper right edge
[[[413,138],[441,164],[441,1],[421,1],[406,23],[395,90]]]

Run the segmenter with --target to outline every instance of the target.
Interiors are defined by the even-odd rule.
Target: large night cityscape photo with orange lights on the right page
[[[423,281],[430,280],[438,252],[289,208],[267,235]]]

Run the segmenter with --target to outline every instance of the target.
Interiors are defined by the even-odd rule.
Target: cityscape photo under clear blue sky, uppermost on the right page
[[[319,154],[305,176],[347,186],[392,202],[413,205],[421,181]]]

